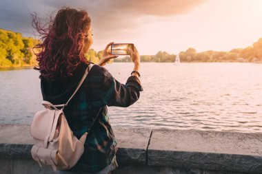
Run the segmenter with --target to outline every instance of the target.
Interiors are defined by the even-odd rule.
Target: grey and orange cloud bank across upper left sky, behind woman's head
[[[104,39],[108,34],[123,34],[126,30],[132,30],[132,28],[138,28],[141,24],[149,23],[149,19],[152,19],[152,17],[161,20],[165,17],[185,14],[206,0],[0,1],[0,28],[30,35],[32,33],[30,13],[37,12],[39,17],[47,18],[50,12],[55,14],[57,9],[68,6],[88,10],[93,28],[99,33],[98,39]]]

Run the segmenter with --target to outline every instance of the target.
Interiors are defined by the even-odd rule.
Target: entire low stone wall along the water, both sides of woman
[[[0,124],[0,174],[54,173],[32,160],[30,126]],[[120,173],[262,173],[262,133],[114,128]]]

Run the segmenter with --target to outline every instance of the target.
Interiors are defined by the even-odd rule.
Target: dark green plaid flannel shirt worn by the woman
[[[90,69],[79,91],[64,109],[77,138],[94,122],[85,140],[83,155],[68,171],[95,173],[111,163],[117,152],[117,141],[110,126],[107,106],[128,107],[139,99],[140,91],[143,89],[136,76],[130,76],[123,85],[104,67],[94,65]]]

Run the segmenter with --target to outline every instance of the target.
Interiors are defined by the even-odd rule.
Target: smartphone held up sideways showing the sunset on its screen
[[[134,51],[133,43],[114,43],[111,45],[111,54],[112,55],[130,55],[131,48]]]

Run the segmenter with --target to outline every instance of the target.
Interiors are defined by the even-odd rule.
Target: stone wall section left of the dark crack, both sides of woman
[[[123,164],[146,164],[151,129],[114,128],[117,138],[117,160]],[[0,124],[0,158],[32,159],[33,139],[29,125]],[[134,141],[135,140],[135,141]]]

